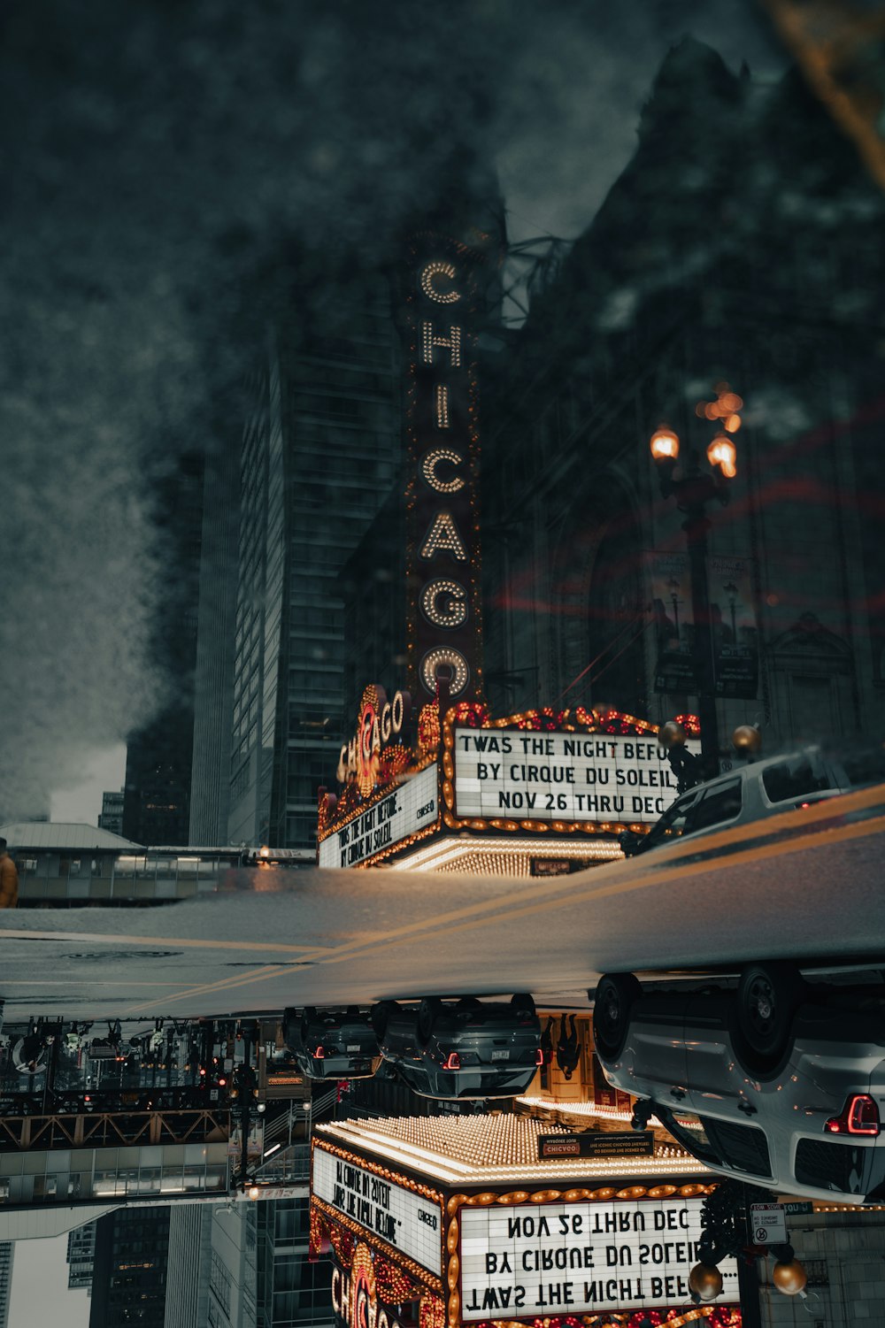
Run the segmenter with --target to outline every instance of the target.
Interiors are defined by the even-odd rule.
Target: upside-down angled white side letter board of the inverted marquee
[[[442,1212],[431,1199],[320,1147],[314,1147],[311,1194],[367,1236],[379,1236],[421,1268],[442,1275]]]

